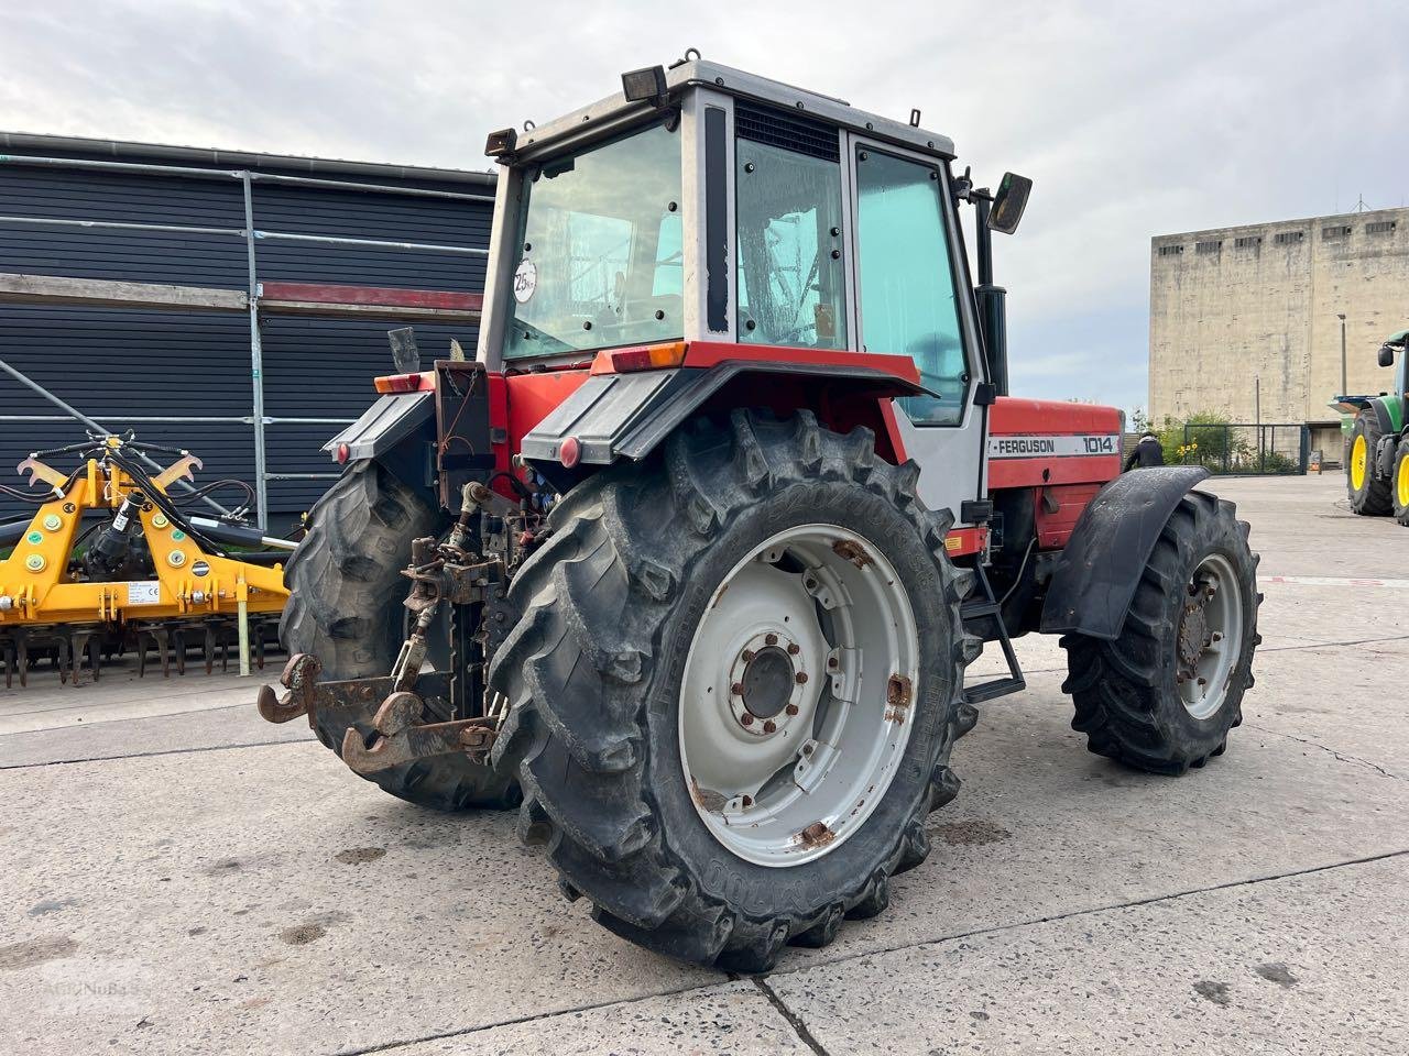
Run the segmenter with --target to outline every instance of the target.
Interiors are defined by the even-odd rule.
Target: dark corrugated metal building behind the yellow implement
[[[389,328],[414,325],[427,360],[452,337],[473,353],[492,210],[489,173],[0,132],[0,360],[190,449],[197,483],[255,484],[262,434],[269,521],[287,522],[335,469],[320,445],[387,373]],[[155,306],[170,287],[209,303]],[[31,451],[83,439],[8,375],[0,421],[11,484]],[[25,513],[0,497],[0,520]]]

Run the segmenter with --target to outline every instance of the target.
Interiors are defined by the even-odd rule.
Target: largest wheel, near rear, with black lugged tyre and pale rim
[[[979,642],[917,467],[809,413],[735,411],[571,491],[490,686],[520,835],[652,950],[768,970],[924,860]]]

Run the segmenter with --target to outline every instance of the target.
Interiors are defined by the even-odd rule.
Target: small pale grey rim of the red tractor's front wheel
[[[1196,719],[1217,714],[1243,648],[1243,591],[1233,565],[1210,553],[1185,586],[1175,642],[1175,683]]]

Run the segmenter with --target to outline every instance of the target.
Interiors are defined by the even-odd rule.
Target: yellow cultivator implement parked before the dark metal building
[[[176,456],[149,474],[138,460],[147,452]],[[41,458],[77,455],[82,465],[62,473]],[[265,536],[231,517],[189,514],[168,490],[189,480],[201,463],[183,451],[145,445],[131,435],[94,436],[20,463],[30,484],[48,494],[6,487],[38,508],[28,521],[0,525],[0,656],[6,686],[49,658],[61,680],[80,680],[87,658],[93,677],[104,658],[135,652],[145,673],[155,652],[162,674],[185,672],[189,650],[200,649],[206,672],[217,655],[228,665],[238,649],[241,672],[251,653],[263,666],[263,649],[278,641],[287,590],[282,562],[294,543]],[[218,486],[240,482],[220,482]],[[194,496],[204,496],[216,484]]]

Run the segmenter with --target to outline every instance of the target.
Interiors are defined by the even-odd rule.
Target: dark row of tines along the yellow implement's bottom
[[[279,614],[251,614],[249,659],[261,670],[271,649],[279,648]],[[51,624],[0,627],[0,665],[6,689],[28,686],[31,672],[56,670],[59,683],[82,686],[97,681],[104,665],[137,659],[138,677],[151,666],[162,677],[186,673],[189,662],[204,665],[206,674],[238,665],[240,621],[235,617],[149,620],[125,624]]]

